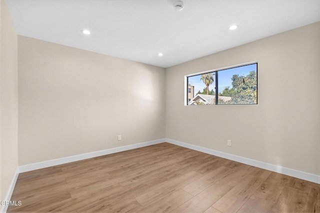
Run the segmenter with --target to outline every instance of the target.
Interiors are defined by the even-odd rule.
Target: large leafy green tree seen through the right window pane
[[[246,76],[234,74],[231,77],[234,93],[230,103],[233,104],[255,104],[256,103],[256,72],[250,71]]]

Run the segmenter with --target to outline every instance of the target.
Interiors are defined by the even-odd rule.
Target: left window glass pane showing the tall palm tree
[[[188,93],[188,105],[215,104],[215,72],[189,76],[187,81],[194,91],[190,96]]]

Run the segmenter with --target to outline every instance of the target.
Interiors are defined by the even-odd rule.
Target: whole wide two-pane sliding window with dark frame
[[[257,62],[186,75],[185,105],[257,104]]]

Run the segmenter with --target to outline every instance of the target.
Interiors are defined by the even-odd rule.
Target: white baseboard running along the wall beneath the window
[[[320,176],[166,138],[166,142],[320,184]]]

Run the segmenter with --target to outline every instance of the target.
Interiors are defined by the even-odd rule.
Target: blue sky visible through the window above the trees
[[[257,64],[249,64],[245,66],[238,66],[230,69],[223,69],[218,71],[218,92],[222,92],[226,86],[232,88],[231,77],[233,74],[247,75],[250,71],[256,71]],[[194,86],[194,96],[200,90],[202,92],[203,88],[206,87],[202,80],[200,80],[201,74],[188,77],[188,83]],[[209,85],[209,90],[214,90],[215,81]]]

